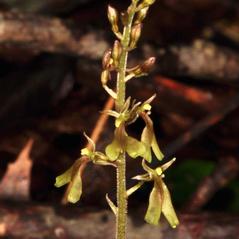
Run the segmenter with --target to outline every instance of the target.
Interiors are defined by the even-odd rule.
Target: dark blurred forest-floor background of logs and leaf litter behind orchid
[[[54,182],[112,107],[99,77],[114,41],[106,9],[129,2],[0,1],[1,238],[112,238],[105,194],[115,199],[114,170],[89,165],[76,206],[61,206],[65,189]],[[156,1],[129,64],[150,56],[154,70],[127,93],[157,93],[152,118],[166,159],[177,158],[165,181],[181,224],[144,225],[146,185],[129,200],[129,238],[239,238],[239,2]],[[112,139],[113,120],[104,123],[99,150]],[[129,132],[140,137],[142,127]],[[140,168],[130,160],[128,178]]]

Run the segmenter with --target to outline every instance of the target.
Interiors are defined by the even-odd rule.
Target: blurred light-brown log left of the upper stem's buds
[[[34,54],[87,55],[91,59],[101,57],[108,48],[101,32],[82,34],[72,30],[59,18],[20,12],[0,12],[0,18],[0,44],[8,48],[18,46]]]

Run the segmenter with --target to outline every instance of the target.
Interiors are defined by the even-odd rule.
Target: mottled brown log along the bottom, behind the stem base
[[[77,215],[77,216],[76,216]],[[180,225],[172,229],[143,222],[143,213],[128,218],[129,239],[238,239],[238,215],[181,214]],[[115,219],[109,211],[83,211],[79,207],[49,207],[0,203],[0,233],[4,238],[112,239]],[[222,229],[223,225],[223,229]]]

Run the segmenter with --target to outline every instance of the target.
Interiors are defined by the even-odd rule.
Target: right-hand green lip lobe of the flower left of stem
[[[72,180],[72,185],[68,193],[67,200],[71,203],[76,203],[80,200],[81,194],[82,194],[82,180],[81,180],[81,172],[80,170],[78,170]]]

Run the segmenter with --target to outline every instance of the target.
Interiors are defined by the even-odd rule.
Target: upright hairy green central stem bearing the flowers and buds
[[[122,54],[119,59],[119,71],[117,75],[117,99],[116,110],[121,111],[125,103],[125,76],[127,67],[128,48],[130,43],[130,33],[132,22],[138,1],[134,1],[129,9],[128,24],[124,27],[122,44]],[[123,151],[119,157],[117,167],[117,206],[118,213],[116,218],[116,239],[126,238],[127,224],[127,195],[126,195],[126,158]]]

